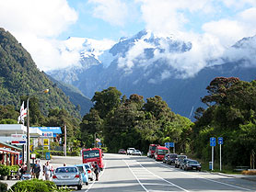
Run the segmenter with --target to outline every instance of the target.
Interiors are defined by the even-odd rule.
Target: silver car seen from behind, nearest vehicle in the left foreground
[[[76,166],[62,166],[56,168],[52,181],[56,186],[77,186],[81,190],[83,178]]]

